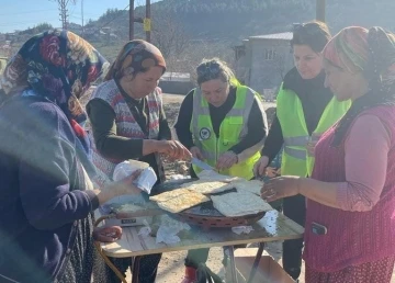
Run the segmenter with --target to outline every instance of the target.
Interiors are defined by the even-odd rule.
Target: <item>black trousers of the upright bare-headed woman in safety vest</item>
[[[283,213],[298,225],[305,225],[306,200],[295,195],[283,200]],[[303,239],[285,240],[283,244],[283,268],[294,280],[301,274]]]

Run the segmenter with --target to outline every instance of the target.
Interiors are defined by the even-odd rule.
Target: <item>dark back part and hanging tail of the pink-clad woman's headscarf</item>
[[[395,37],[382,27],[372,27],[366,39],[369,59],[363,72],[369,81],[369,92],[354,100],[349,111],[337,124],[334,147],[341,145],[350,125],[361,112],[379,105],[395,105],[394,81],[392,78],[386,79],[383,76],[395,64]],[[394,71],[391,76],[395,76]]]

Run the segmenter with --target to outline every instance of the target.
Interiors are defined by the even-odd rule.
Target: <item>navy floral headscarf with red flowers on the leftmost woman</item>
[[[109,64],[98,50],[71,32],[54,30],[38,34],[7,65],[0,81],[5,93],[3,100],[37,95],[54,102],[65,112],[88,151],[89,142],[79,126],[87,115],[79,99],[105,65]]]

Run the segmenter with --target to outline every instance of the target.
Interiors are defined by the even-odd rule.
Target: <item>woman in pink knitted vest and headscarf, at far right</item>
[[[312,179],[281,177],[272,201],[307,200],[306,283],[391,282],[395,261],[395,36],[347,27],[324,49],[326,80],[347,114],[316,145]]]

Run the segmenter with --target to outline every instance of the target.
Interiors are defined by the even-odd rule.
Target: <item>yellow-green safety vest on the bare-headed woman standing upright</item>
[[[307,154],[306,145],[316,143],[321,134],[331,127],[348,111],[351,102],[339,102],[334,97],[325,107],[316,129],[308,136],[303,106],[297,94],[284,90],[281,86],[278,94],[276,115],[284,138],[284,155],[282,158],[282,174],[311,176],[314,157]]]

